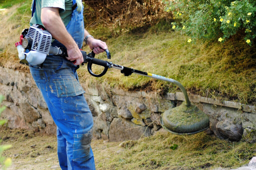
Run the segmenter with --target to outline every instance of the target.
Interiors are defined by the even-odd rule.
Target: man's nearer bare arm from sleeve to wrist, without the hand
[[[41,21],[52,37],[62,43],[67,49],[78,48],[72,36],[68,33],[59,15],[59,8],[42,8]]]

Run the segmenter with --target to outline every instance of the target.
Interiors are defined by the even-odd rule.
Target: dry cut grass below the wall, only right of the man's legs
[[[235,168],[248,163],[256,152],[253,144],[219,140],[205,133],[190,136],[158,133],[120,145],[101,142],[94,143],[95,146],[96,169]]]

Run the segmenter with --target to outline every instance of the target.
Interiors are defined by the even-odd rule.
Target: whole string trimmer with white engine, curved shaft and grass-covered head
[[[63,47],[59,48],[51,46],[51,39],[51,34],[41,25],[33,25],[29,27],[29,29],[23,30],[22,35],[20,35],[20,41],[15,43],[15,46],[18,49],[20,63],[30,67],[36,65],[43,67],[43,62],[48,54],[66,57],[66,49]],[[111,59],[109,50],[106,49],[105,51],[107,58]],[[166,110],[161,115],[161,125],[168,132],[178,135],[187,135],[198,133],[209,128],[208,116],[200,111],[194,104],[190,103],[187,91],[178,81],[94,58],[95,54],[93,51],[88,55],[85,51],[81,51],[81,53],[84,59],[82,65],[87,63],[88,72],[95,77],[101,77],[108,71],[108,69],[114,68],[121,70],[121,73],[123,73],[124,76],[129,76],[132,73],[135,73],[176,84],[181,89],[185,97],[185,102],[178,107]],[[104,70],[102,73],[94,74],[92,71],[92,64],[103,66]]]

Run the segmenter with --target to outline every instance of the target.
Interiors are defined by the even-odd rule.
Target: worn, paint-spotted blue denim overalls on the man
[[[73,0],[73,4],[75,3],[76,0]],[[34,11],[35,9],[32,10],[32,15]],[[66,29],[81,48],[84,38],[83,9],[81,12],[73,10]],[[52,46],[63,45],[55,40]],[[79,66],[74,66],[66,58],[52,55],[46,57],[42,69],[37,66],[30,67],[33,79],[57,125],[58,159],[61,169],[95,169],[90,146],[93,119],[83,96],[85,91],[78,81],[78,68]]]

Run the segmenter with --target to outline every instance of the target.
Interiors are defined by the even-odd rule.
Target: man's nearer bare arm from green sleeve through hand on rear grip
[[[59,15],[59,8],[42,8],[41,21],[45,28],[51,33],[52,37],[67,48],[67,59],[70,61],[76,60],[74,65],[80,65],[83,62],[82,53],[62,22]]]

